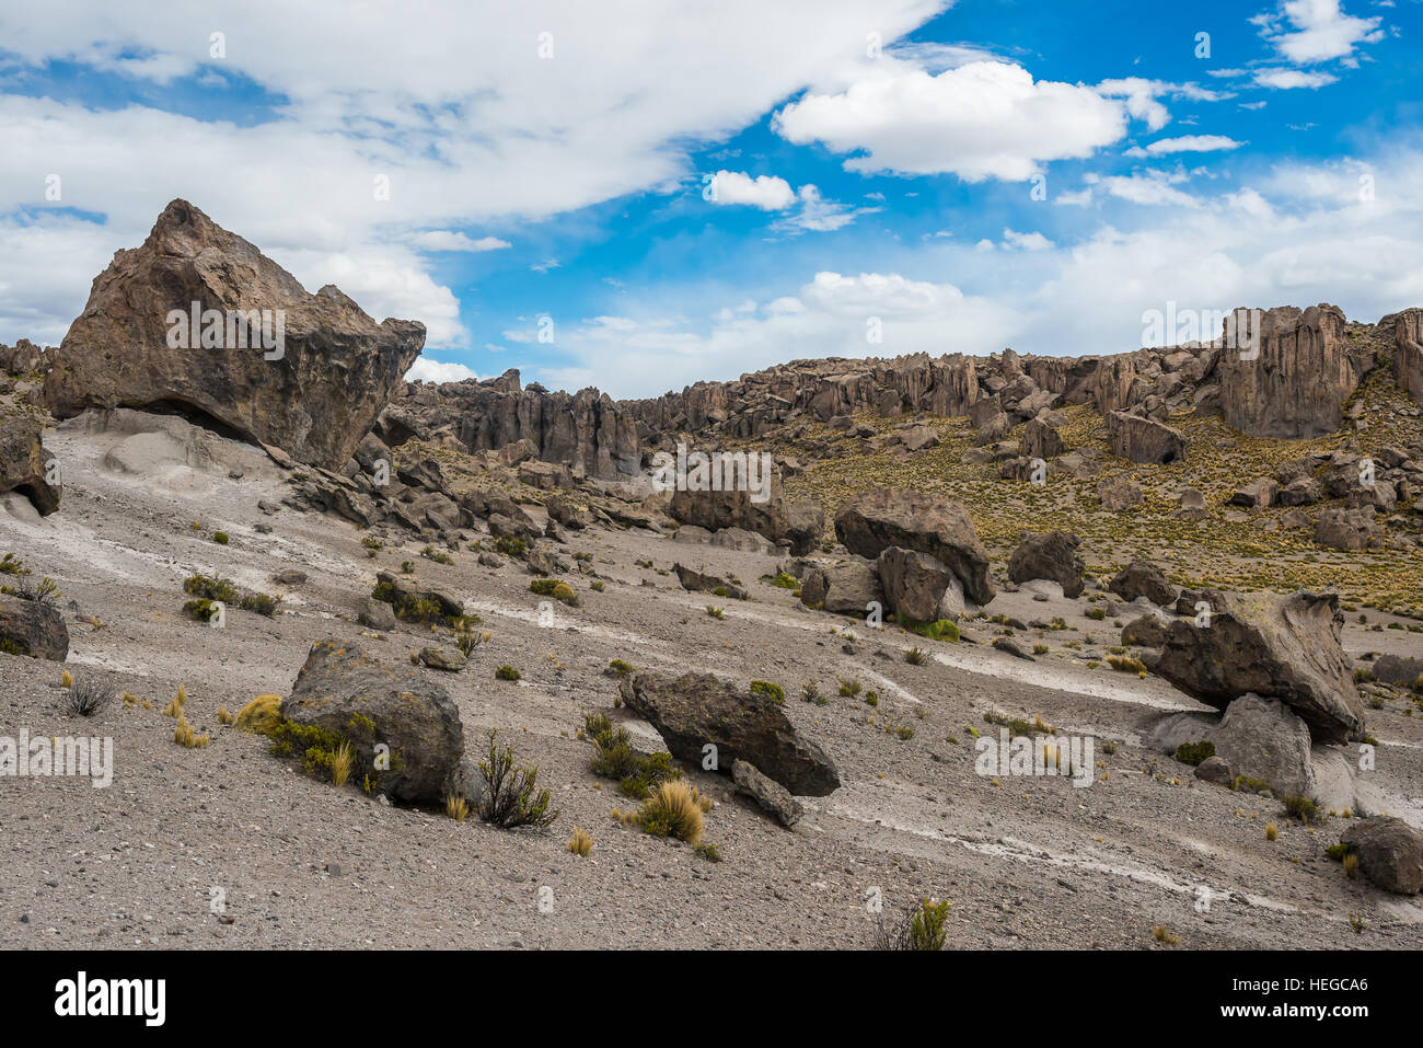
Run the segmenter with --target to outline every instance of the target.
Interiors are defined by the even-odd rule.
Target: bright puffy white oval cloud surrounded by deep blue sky
[[[966,182],[1027,179],[1043,161],[1090,157],[1127,128],[1123,103],[1090,87],[1035,81],[1020,66],[976,61],[904,71],[837,94],[807,94],[773,128],[795,144],[865,151],[848,171],[952,172]]]

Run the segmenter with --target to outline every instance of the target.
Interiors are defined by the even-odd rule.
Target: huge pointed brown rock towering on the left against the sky
[[[252,310],[255,323],[236,322]],[[265,328],[260,310],[270,310]],[[117,252],[94,279],[84,313],[46,355],[44,394],[61,419],[87,407],[203,416],[340,470],[424,339],[424,325],[377,325],[332,285],[309,295],[256,246],[174,201],[142,246]]]

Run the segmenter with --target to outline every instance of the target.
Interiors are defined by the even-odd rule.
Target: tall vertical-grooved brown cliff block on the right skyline
[[[1258,346],[1221,352],[1221,414],[1252,437],[1292,440],[1339,429],[1362,377],[1338,306],[1265,310]]]

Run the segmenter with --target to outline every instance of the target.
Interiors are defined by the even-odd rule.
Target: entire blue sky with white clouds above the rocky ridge
[[[417,376],[613,396],[1423,305],[1419,0],[115,7],[0,14],[3,342],[174,197]]]

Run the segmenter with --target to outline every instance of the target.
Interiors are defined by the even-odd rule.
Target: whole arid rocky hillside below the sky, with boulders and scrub
[[[179,205],[155,238],[246,258]],[[1220,345],[797,362],[660,402],[408,384],[408,322],[350,303],[337,323],[334,289],[289,322],[290,386],[209,352],[131,390],[85,339],[162,355],[132,335],[161,319],[135,305],[166,286],[145,266],[172,256],[147,251],[0,389],[26,461],[61,466],[7,467],[0,581],[57,592],[0,611],[67,631],[58,658],[0,652],[0,733],[114,753],[105,789],[0,775],[0,945],[871,948],[926,898],[953,948],[1423,944],[1423,412],[1395,359],[1420,310],[1271,310],[1265,360],[1352,376],[1316,367],[1291,394],[1335,404],[1321,433],[1255,426],[1284,394],[1239,393]],[[380,373],[287,392],[347,349]],[[656,491],[652,456],[679,443],[767,453],[774,496]],[[202,580],[280,599],[211,619]],[[369,708],[374,738],[420,742],[400,775],[428,758],[450,777],[388,797],[366,736],[333,782],[324,742],[303,760],[296,736],[229,723],[263,695],[290,723],[367,709],[367,678],[319,681],[322,659],[383,666],[418,716],[462,726],[462,753],[427,755],[424,729],[381,720],[398,702]],[[77,716],[84,688],[111,701]],[[743,720],[707,713],[723,699]],[[672,782],[707,799],[699,836],[653,832],[595,773],[589,715],[672,748]],[[551,824],[480,817],[490,729],[538,766]],[[764,755],[760,803],[679,752],[697,730]],[[1000,730],[1091,759],[985,773]],[[783,789],[811,780],[835,785]],[[1340,846],[1376,826],[1387,847]]]

